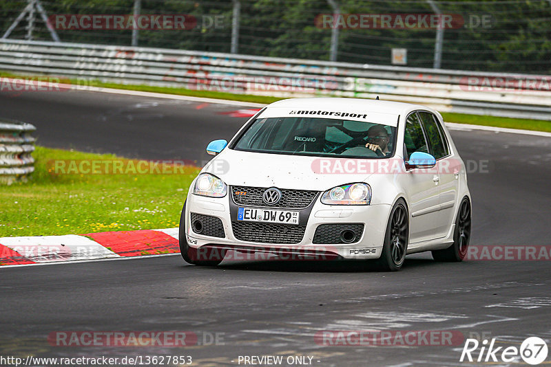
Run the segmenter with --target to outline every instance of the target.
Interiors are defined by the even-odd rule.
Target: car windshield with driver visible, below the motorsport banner
[[[390,157],[393,126],[329,118],[260,118],[241,135],[238,151],[323,157]],[[367,145],[367,147],[366,147]]]

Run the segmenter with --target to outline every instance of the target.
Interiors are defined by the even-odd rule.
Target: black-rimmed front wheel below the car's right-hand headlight
[[[384,244],[377,266],[384,271],[402,269],[409,241],[409,215],[404,199],[398,199],[388,218]]]

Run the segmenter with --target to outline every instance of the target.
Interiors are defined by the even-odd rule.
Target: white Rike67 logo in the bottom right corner
[[[496,339],[492,338],[479,343],[476,339],[467,339],[461,352],[459,362],[506,362],[511,363],[522,359],[533,366],[541,364],[547,359],[548,348],[545,341],[539,337],[528,337],[520,346],[495,346]],[[481,345],[480,345],[481,344]],[[480,347],[480,350],[478,351]]]

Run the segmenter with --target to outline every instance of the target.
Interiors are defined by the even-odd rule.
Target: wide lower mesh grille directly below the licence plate
[[[233,236],[238,240],[259,243],[299,243],[306,225],[256,222],[231,222]]]

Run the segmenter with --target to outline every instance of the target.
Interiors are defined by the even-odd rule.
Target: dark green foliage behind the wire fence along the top
[[[433,14],[424,0],[335,0],[342,14]],[[240,0],[239,53],[259,56],[329,60],[331,29],[315,23],[332,14],[326,0]],[[26,5],[0,0],[0,30],[6,30]],[[48,14],[132,14],[132,0],[61,0],[44,3]],[[464,19],[444,31],[443,69],[550,74],[551,3],[548,0],[437,0],[441,12]],[[140,30],[139,45],[229,52],[232,1],[143,0],[141,14],[189,14],[191,30]],[[209,27],[203,16],[221,16],[221,27]],[[489,16],[489,23],[470,27]],[[476,24],[475,24],[476,25]],[[25,21],[12,38],[25,36]],[[129,45],[130,30],[59,30],[62,41]],[[338,61],[388,65],[392,48],[408,49],[408,66],[433,67],[435,29],[342,29]],[[34,38],[49,40],[37,19]]]

